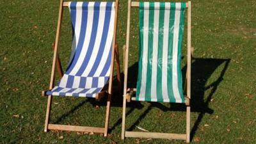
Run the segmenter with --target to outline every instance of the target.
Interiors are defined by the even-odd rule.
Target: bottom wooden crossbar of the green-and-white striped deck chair
[[[163,139],[186,140],[186,134],[173,134],[173,133],[162,133],[162,132],[125,131],[125,137],[130,137],[130,138],[163,138]]]

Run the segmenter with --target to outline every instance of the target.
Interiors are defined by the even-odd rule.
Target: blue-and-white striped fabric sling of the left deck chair
[[[108,82],[115,3],[70,2],[72,54],[67,71],[47,95],[95,97]]]

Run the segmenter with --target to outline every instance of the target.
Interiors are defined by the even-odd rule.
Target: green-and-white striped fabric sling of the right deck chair
[[[136,100],[184,103],[181,51],[186,3],[140,2]]]

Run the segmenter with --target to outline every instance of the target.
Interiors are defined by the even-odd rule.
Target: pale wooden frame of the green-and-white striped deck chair
[[[128,56],[129,56],[129,35],[130,35],[130,19],[131,19],[131,7],[138,7],[138,1],[128,1],[128,14],[127,14],[127,36],[126,45],[124,45],[124,99],[123,99],[123,115],[122,115],[122,140],[125,137],[132,138],[166,138],[186,140],[186,143],[190,141],[190,91],[191,91],[191,1],[186,3],[188,8],[188,61],[187,61],[187,74],[186,74],[186,134],[173,134],[173,133],[161,133],[161,132],[132,132],[125,131],[125,112],[126,101],[135,100],[131,95],[136,92],[136,89],[127,88],[127,72],[128,72]]]

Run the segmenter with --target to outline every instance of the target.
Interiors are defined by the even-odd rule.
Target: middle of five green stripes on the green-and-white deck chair
[[[163,68],[163,35],[164,35],[164,5],[160,3],[159,10],[159,35],[157,53],[157,102],[163,102],[162,93],[162,68]]]

